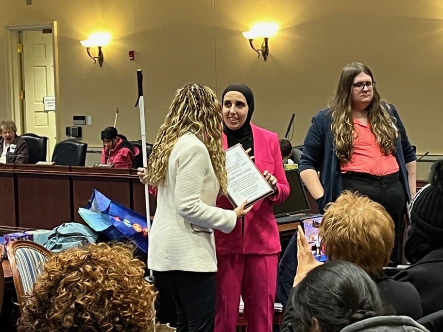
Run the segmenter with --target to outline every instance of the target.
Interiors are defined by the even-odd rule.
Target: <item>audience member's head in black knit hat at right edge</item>
[[[410,222],[405,256],[410,263],[416,263],[443,247],[443,160],[432,165],[429,184],[413,199]]]

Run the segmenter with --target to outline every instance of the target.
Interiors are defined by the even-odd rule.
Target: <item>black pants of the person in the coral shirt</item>
[[[403,234],[403,223],[406,212],[406,193],[400,178],[400,172],[385,176],[367,173],[347,172],[342,174],[343,190],[358,191],[383,205],[392,217],[395,225],[395,242],[391,254],[391,265],[400,262],[399,243]]]

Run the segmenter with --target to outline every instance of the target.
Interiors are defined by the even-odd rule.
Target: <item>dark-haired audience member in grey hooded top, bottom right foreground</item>
[[[299,279],[288,300],[299,316],[286,312],[281,332],[427,332],[410,317],[393,315],[372,278],[352,263],[327,262]]]

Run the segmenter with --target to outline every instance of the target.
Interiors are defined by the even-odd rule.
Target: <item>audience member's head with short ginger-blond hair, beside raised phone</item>
[[[376,277],[389,263],[394,223],[380,204],[345,191],[326,206],[319,235],[329,260],[355,263]]]

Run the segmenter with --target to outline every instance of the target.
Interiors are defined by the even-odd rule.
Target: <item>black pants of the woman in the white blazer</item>
[[[177,309],[177,332],[213,332],[215,320],[215,272],[154,272],[162,288],[168,285]],[[161,290],[159,289],[161,297]]]

